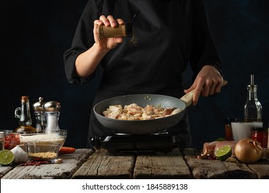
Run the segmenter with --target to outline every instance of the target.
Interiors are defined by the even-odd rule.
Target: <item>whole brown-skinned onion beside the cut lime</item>
[[[261,144],[253,139],[241,139],[235,145],[235,156],[243,163],[255,163],[262,156]]]

